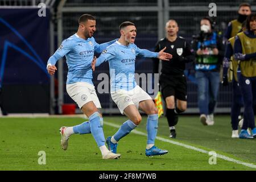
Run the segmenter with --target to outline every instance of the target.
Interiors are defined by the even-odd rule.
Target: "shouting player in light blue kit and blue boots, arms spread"
[[[115,104],[122,114],[129,119],[123,123],[113,137],[108,137],[106,143],[109,150],[117,153],[117,142],[135,129],[142,120],[138,109],[147,115],[147,146],[146,156],[164,155],[167,150],[155,147],[155,138],[158,130],[158,109],[156,109],[152,98],[140,88],[134,77],[136,56],[158,57],[161,60],[169,60],[172,55],[163,52],[151,52],[139,49],[135,44],[136,27],[134,23],[123,22],[119,26],[121,37],[118,41],[106,48],[92,63],[92,68],[104,61],[109,61],[110,68],[110,91]],[[95,63],[96,61],[96,63]]]

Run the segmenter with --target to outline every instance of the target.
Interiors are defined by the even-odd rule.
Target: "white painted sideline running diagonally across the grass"
[[[119,125],[115,125],[113,123],[109,123],[109,122],[106,122],[106,121],[104,121],[104,125],[109,125],[109,126],[113,126],[113,127],[116,127],[116,128],[120,127]],[[132,130],[131,133],[147,136],[146,133],[143,133],[143,132],[137,131],[137,130]],[[162,137],[156,137],[156,139],[161,140],[163,142],[168,142],[168,143],[176,144],[177,146],[185,147],[185,148],[188,148],[188,149],[191,149],[191,150],[195,150],[195,151],[198,151],[198,152],[202,152],[202,153],[205,153],[205,154],[209,154],[209,151],[203,150],[201,148],[196,148],[196,147],[193,147],[193,146],[189,146],[188,144],[184,144],[184,143],[180,143],[180,142],[175,142],[173,140],[162,138]],[[228,156],[225,156],[225,155],[217,154],[217,158],[220,158],[220,159],[223,159],[223,160],[228,160],[229,162],[233,162],[233,163],[237,163],[237,164],[242,164],[243,166],[247,166],[247,167],[251,167],[251,168],[256,168],[256,165],[254,165],[254,164],[245,163],[245,162],[242,162],[241,160],[236,160],[236,159],[233,159],[233,158],[229,158]]]

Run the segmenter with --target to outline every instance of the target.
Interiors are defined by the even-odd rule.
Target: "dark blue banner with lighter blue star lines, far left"
[[[49,11],[38,11],[0,9],[1,100],[10,113],[49,109]]]

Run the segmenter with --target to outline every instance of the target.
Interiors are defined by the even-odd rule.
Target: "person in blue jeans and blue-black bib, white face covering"
[[[200,26],[200,35],[192,41],[192,49],[196,52],[195,76],[200,121],[203,125],[213,125],[224,48],[221,38],[213,31],[212,20],[203,18]]]

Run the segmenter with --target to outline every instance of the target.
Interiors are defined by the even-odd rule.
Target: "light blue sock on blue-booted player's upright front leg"
[[[156,133],[158,133],[158,114],[151,114],[147,117],[147,144],[154,144]]]

